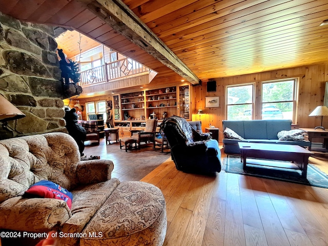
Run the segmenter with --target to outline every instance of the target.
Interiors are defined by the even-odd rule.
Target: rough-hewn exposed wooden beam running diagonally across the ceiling
[[[120,0],[80,0],[96,16],[193,85],[200,79]]]

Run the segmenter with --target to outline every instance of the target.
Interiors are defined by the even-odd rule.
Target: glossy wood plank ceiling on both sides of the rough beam
[[[181,76],[86,8],[92,0],[0,0],[0,11],[70,27],[159,72]],[[328,61],[327,0],[123,0],[202,81]]]

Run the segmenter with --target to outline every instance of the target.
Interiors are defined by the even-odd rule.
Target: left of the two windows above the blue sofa
[[[253,119],[254,84],[227,87],[227,119]]]

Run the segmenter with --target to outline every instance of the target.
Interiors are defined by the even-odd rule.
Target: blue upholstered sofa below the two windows
[[[268,120],[222,120],[223,130],[230,128],[241,136],[242,140],[223,138],[224,153],[239,154],[238,142],[259,142],[266,144],[299,145],[309,147],[310,141],[286,141],[278,140],[278,132],[290,131],[292,121],[289,119]]]

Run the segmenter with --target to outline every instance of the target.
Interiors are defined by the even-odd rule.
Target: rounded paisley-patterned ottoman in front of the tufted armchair
[[[161,191],[149,183],[125,181],[84,229],[86,236],[80,244],[162,245],[166,226],[166,203]],[[98,232],[102,233],[100,238],[91,236]]]

